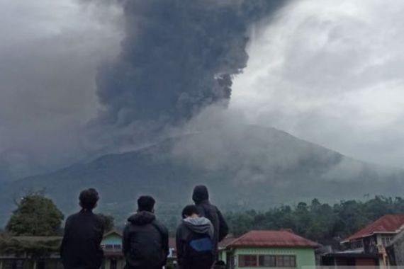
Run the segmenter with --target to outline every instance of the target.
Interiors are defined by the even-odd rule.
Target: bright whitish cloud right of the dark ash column
[[[402,1],[295,1],[250,42],[231,106],[357,159],[404,166]]]

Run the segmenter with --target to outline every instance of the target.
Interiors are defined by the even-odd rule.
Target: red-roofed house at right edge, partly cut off
[[[403,228],[403,214],[385,215],[342,241],[346,250],[322,255],[322,265],[388,266],[386,246]]]

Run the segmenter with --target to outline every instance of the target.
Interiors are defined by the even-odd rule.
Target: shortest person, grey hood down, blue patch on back
[[[176,230],[176,256],[179,269],[210,269],[214,261],[213,225],[199,217],[198,207],[182,210],[182,223]]]

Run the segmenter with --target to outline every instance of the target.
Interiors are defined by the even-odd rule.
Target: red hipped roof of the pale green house
[[[316,248],[320,245],[290,231],[249,231],[228,246]]]

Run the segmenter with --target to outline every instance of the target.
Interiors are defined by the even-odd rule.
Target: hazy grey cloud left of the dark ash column
[[[116,55],[118,8],[75,1],[0,1],[0,166],[6,177],[81,158],[96,114],[94,76]],[[99,13],[108,14],[99,18]]]

